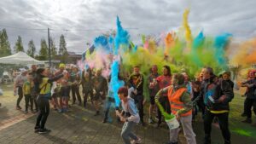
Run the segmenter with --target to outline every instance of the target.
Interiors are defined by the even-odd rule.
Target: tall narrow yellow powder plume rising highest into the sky
[[[183,28],[185,30],[185,38],[187,41],[187,47],[190,49],[191,48],[191,43],[192,43],[192,35],[191,35],[191,30],[189,27],[189,9],[185,9],[183,13]]]

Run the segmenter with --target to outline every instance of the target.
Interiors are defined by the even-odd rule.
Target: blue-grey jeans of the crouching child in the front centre
[[[123,138],[123,140],[125,141],[125,144],[131,144],[130,138],[133,140],[137,141],[137,135],[134,135],[131,130],[134,127],[134,125],[136,125],[136,123],[134,122],[125,122],[122,132],[121,132],[121,136]]]

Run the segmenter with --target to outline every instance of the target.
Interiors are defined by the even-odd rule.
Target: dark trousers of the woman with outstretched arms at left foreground
[[[39,113],[38,113],[36,127],[40,127],[40,129],[44,129],[44,125],[49,115],[49,100],[47,98],[44,98],[43,95],[39,95],[37,102],[38,102]]]

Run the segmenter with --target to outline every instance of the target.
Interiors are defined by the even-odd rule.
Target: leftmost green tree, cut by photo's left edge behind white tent
[[[12,50],[10,48],[8,35],[5,29],[0,31],[0,57],[11,55]]]

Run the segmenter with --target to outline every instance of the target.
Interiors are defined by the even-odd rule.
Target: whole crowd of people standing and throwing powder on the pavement
[[[20,101],[25,96],[25,112],[28,112],[29,107],[31,112],[38,112],[35,131],[43,134],[50,131],[45,128],[49,101],[59,113],[69,112],[69,101],[84,108],[90,101],[95,108],[95,116],[104,112],[103,123],[110,121],[109,109],[113,106],[118,120],[125,123],[121,132],[125,144],[141,143],[142,140],[132,133],[132,128],[137,124],[145,126],[143,116],[147,101],[144,90],[148,90],[149,124],[155,123],[156,127],[160,127],[163,122],[160,108],[155,104],[155,101],[159,101],[165,112],[175,115],[182,125],[189,144],[196,143],[192,122],[198,112],[202,113],[204,121],[204,143],[211,143],[212,121],[217,119],[224,143],[230,144],[229,103],[234,98],[234,83],[230,79],[230,72],[225,71],[217,76],[211,67],[204,67],[198,78],[190,80],[186,72],[172,74],[170,66],[163,66],[162,72],[159,73],[158,68],[160,67],[153,65],[147,77],[140,72],[140,66],[134,66],[129,77],[119,73],[119,80],[125,83],[118,91],[122,106],[120,108],[115,105],[116,98],[112,89],[109,89],[111,77],[103,77],[100,69],[88,68],[80,71],[78,66],[67,68],[65,64],[60,64],[59,68],[52,72],[48,68],[37,68],[33,65],[30,71],[21,72],[15,79],[14,91],[15,95],[18,95],[16,109],[21,109]],[[252,107],[256,114],[255,74],[255,71],[250,72],[248,80],[241,83],[242,87],[247,87],[247,98],[242,113],[247,119],[243,122],[249,124],[252,123]],[[144,89],[145,85],[147,89]],[[102,103],[105,103],[104,109],[101,107]],[[179,130],[180,128],[170,130],[168,143],[177,144]]]

